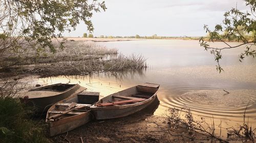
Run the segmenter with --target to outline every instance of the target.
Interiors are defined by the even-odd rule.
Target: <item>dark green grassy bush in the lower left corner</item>
[[[22,103],[0,87],[0,142],[50,142],[44,128],[31,120]],[[39,123],[40,124],[40,123]]]

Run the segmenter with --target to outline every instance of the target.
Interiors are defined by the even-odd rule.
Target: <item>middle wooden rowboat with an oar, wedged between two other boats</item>
[[[98,92],[82,92],[52,105],[46,116],[50,136],[65,133],[91,121],[86,109],[99,100]]]

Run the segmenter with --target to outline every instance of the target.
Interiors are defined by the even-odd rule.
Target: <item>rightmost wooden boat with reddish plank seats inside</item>
[[[159,84],[143,83],[114,93],[90,106],[95,119],[112,119],[131,115],[154,102]]]

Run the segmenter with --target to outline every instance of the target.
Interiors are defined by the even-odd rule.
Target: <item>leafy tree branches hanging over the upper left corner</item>
[[[105,2],[53,1],[53,0],[4,0],[0,1],[0,51],[16,52],[22,48],[20,42],[36,51],[49,48],[56,52],[52,39],[63,38],[62,33],[71,32],[83,21],[89,32],[94,30],[90,18],[93,12],[105,11]],[[63,48],[61,41],[58,48]]]

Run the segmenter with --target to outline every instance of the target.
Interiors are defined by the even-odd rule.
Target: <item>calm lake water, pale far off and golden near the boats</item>
[[[223,51],[221,65],[216,70],[214,56],[206,52],[196,40],[141,40],[98,43],[117,48],[124,55],[141,54],[149,66],[146,70],[117,74],[100,73],[92,76],[60,76],[42,78],[42,82],[80,83],[101,97],[133,87],[143,82],[160,84],[160,105],[154,115],[162,116],[168,107],[188,107],[194,117],[210,121],[216,128],[237,127],[243,123],[243,113],[256,127],[256,60],[238,60],[241,48]],[[229,43],[237,45],[237,43]],[[214,46],[225,46],[216,42]],[[228,91],[226,94],[223,90]],[[246,119],[247,121],[247,119]],[[222,131],[223,132],[223,131]],[[225,131],[224,131],[225,133]]]

